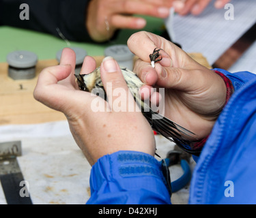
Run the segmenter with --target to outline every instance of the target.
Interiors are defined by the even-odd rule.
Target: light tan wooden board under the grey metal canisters
[[[190,56],[210,68],[208,61],[201,54],[192,53]],[[104,57],[94,58],[99,66]],[[61,112],[52,110],[33,98],[33,89],[38,80],[38,74],[45,67],[57,64],[56,60],[38,61],[35,78],[12,80],[8,76],[8,63],[0,63],[0,125],[34,124],[66,119]]]

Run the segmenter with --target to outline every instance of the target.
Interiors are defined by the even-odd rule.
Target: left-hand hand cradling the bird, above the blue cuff
[[[112,58],[104,59],[101,77],[105,88],[107,83],[112,85],[111,90],[106,89],[109,102],[118,98],[117,102],[126,106],[122,109],[127,112],[117,112],[115,104],[80,91],[74,78],[74,66],[74,51],[65,48],[60,64],[40,73],[33,95],[39,102],[66,115],[72,135],[89,163],[93,165],[103,155],[120,150],[141,151],[154,156],[156,146],[152,128],[141,112],[128,111],[128,106],[135,107],[136,103],[133,97],[128,97],[131,93],[117,62]],[[86,57],[81,72],[89,73],[95,67],[94,59]],[[126,95],[114,95],[117,89],[122,89]],[[100,111],[97,112],[94,106]]]

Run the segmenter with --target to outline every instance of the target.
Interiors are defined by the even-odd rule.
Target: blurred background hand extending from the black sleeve
[[[133,14],[167,18],[169,7],[169,0],[92,0],[87,7],[86,27],[94,41],[103,42],[117,29],[145,27],[146,20]]]

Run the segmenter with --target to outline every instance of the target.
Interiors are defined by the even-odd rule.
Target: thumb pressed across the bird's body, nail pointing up
[[[136,103],[128,89],[117,61],[112,57],[104,58],[100,67],[100,73],[111,111],[134,111]]]

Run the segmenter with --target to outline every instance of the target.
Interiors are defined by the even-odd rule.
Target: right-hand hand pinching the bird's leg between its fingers
[[[141,88],[142,97],[149,97],[152,87],[164,87],[163,115],[193,131],[199,139],[208,136],[225,105],[223,78],[171,42],[152,33],[134,33],[128,40],[128,47],[139,57],[134,73],[147,84]],[[159,51],[162,60],[155,68],[150,65],[149,57],[154,48],[162,49]]]

